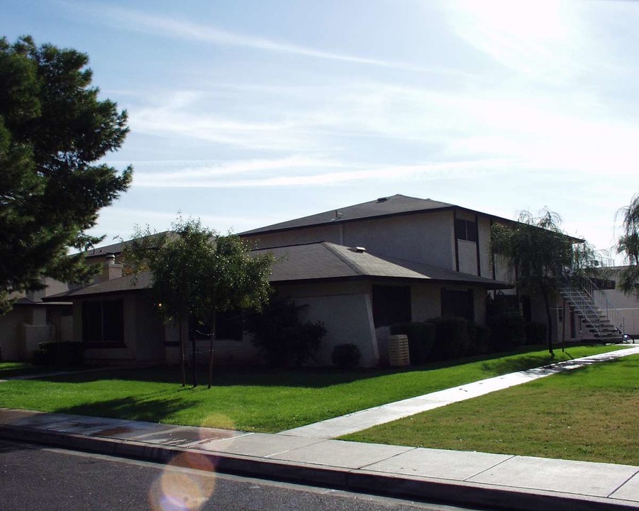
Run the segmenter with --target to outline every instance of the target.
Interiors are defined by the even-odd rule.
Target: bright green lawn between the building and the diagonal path
[[[168,368],[104,370],[0,384],[0,407],[279,432],[387,402],[614,346],[461,361],[404,370],[217,369],[213,388],[182,388]],[[204,375],[201,375],[201,381]]]

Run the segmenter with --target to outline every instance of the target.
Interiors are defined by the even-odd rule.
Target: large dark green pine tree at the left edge
[[[98,99],[87,55],[0,38],[0,314],[45,276],[86,281],[82,255],[98,212],[126,191],[131,167],[97,164],[121,147],[126,112]]]

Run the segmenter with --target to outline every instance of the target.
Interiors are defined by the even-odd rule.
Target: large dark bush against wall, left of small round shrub
[[[302,366],[319,349],[326,329],[322,322],[302,323],[299,312],[305,308],[276,295],[261,312],[248,314],[245,330],[270,366]]]

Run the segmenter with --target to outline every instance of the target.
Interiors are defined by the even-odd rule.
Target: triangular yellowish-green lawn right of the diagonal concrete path
[[[639,356],[558,373],[343,439],[639,465]]]

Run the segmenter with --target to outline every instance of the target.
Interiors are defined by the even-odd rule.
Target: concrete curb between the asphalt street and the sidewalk
[[[140,441],[60,433],[28,427],[0,424],[0,437],[64,449],[132,458],[155,463],[170,463],[178,454],[204,456],[221,473],[267,478],[288,483],[316,485],[357,493],[421,500],[445,505],[489,507],[494,510],[538,511],[637,511],[633,502],[611,498],[584,497],[526,488],[409,477],[389,473],[289,463],[269,458],[212,453],[196,448],[145,444]],[[179,465],[179,461],[174,461]]]

